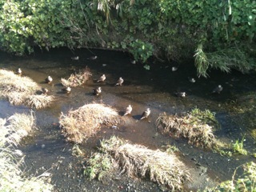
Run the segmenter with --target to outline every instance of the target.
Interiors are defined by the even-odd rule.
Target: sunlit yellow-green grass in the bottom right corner
[[[243,168],[243,174],[238,178],[236,172],[239,168]],[[238,166],[234,170],[232,180],[222,182],[218,186],[206,189],[204,191],[255,191],[256,190],[256,164],[254,162],[247,162],[242,166]]]

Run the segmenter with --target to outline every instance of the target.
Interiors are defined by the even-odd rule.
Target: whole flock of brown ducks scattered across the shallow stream
[[[89,60],[94,60],[94,59],[97,59],[98,57],[95,55],[95,56],[92,56],[90,58],[87,58]],[[79,57],[76,56],[76,57],[73,57],[71,58],[72,60],[74,61],[77,61],[79,60]],[[134,61],[132,61],[132,63],[134,64]],[[175,70],[178,70],[177,67],[172,67],[172,70],[175,71]],[[18,68],[18,70],[16,71],[16,74],[18,75],[21,75],[22,74],[22,70],[21,68]],[[98,78],[97,82],[105,82],[106,80],[106,75],[105,74],[102,74],[102,76],[100,78]],[[45,79],[45,82],[50,84],[51,82],[53,81],[53,78],[51,78],[50,76],[48,76],[46,79]],[[189,81],[190,82],[195,82],[195,79],[194,78],[189,78]],[[115,86],[122,86],[122,83],[124,82],[123,78],[120,77],[118,79],[118,81],[116,82]],[[221,91],[223,90],[223,87],[221,85],[218,85],[216,88],[214,88],[214,90],[212,91],[213,94],[220,94]],[[64,88],[62,88],[62,91],[65,92],[66,94],[69,94],[70,91],[71,91],[71,88],[70,86],[66,86]],[[48,94],[49,90],[46,89],[46,88],[42,88],[42,94]],[[98,86],[98,88],[95,88],[92,92],[94,95],[99,95],[102,93],[102,88],[100,86]],[[185,98],[186,97],[186,92],[176,92],[175,93],[176,96],[178,97],[181,97],[181,98]],[[124,116],[126,116],[127,114],[131,114],[131,111],[133,110],[132,106],[129,105],[126,107],[126,111],[125,113],[123,114]],[[141,119],[143,118],[148,118],[150,115],[150,108],[147,108],[141,115]]]

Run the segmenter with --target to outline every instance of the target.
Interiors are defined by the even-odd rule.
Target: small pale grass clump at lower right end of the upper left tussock
[[[54,101],[54,96],[46,95],[46,94],[33,94],[26,98],[26,106],[30,106],[31,108],[41,109],[46,106],[50,106],[50,104]]]

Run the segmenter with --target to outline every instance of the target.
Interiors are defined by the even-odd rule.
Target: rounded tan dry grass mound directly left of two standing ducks
[[[68,141],[81,143],[96,134],[101,126],[121,123],[117,110],[103,104],[86,104],[62,114],[59,120]]]

